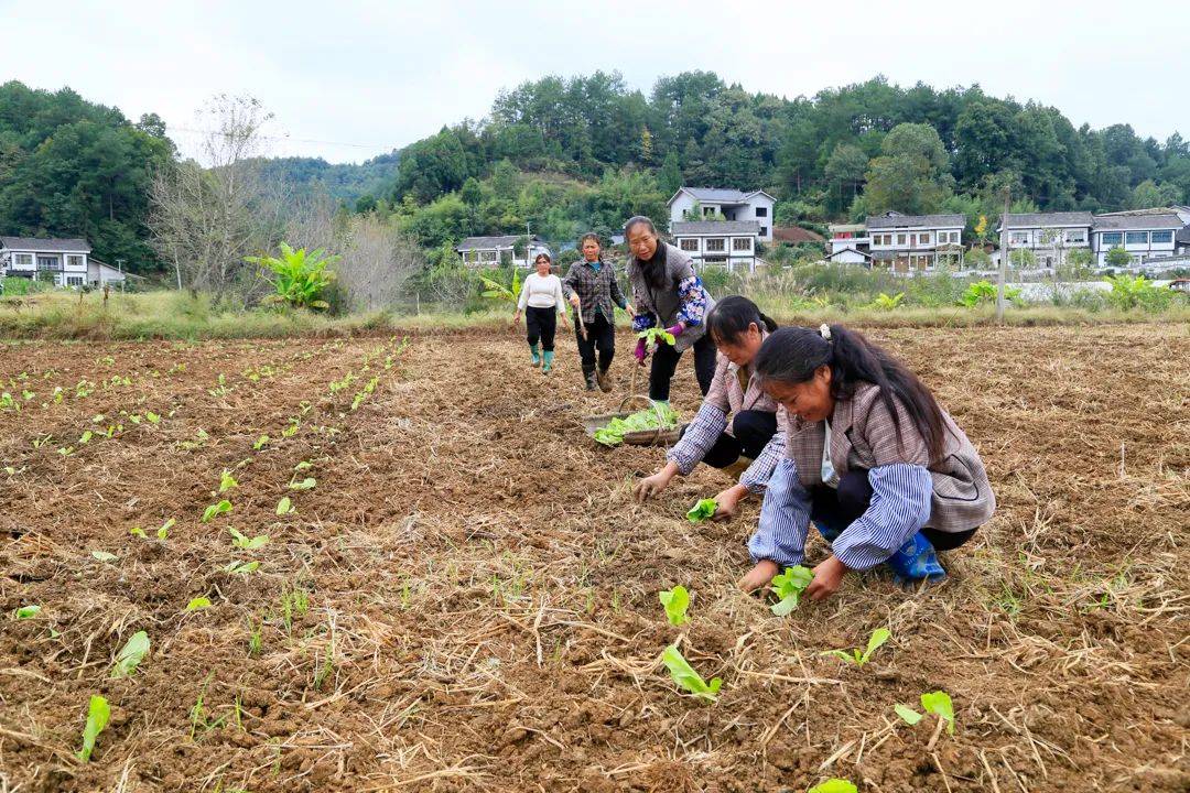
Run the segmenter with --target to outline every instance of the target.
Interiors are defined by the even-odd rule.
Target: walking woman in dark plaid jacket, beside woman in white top
[[[607,375],[615,357],[615,309],[619,306],[632,316],[632,306],[620,292],[615,281],[615,268],[603,262],[603,247],[599,234],[588,232],[578,240],[583,252],[582,262],[570,265],[570,272],[562,279],[562,289],[575,307],[575,339],[583,361],[583,382],[588,391],[597,385],[605,392],[612,390]],[[585,328],[584,328],[585,325]],[[595,369],[595,350],[599,350],[599,370]]]

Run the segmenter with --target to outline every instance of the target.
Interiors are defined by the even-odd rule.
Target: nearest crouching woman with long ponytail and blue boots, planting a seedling
[[[806,592],[829,597],[848,569],[882,562],[897,580],[941,580],[996,498],[971,441],[904,364],[840,325],[781,328],[756,371],[788,411],[785,457],[749,541],[752,591],[798,565],[809,522],[831,543]]]

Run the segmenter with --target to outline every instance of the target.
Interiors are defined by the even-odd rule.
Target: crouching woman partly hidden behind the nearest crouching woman
[[[744,459],[751,465],[739,484],[715,496],[714,517],[735,515],[740,499],[763,493],[774,466],[785,453],[785,434],[777,432],[777,414],[784,413],[760,388],[753,363],[760,345],[777,323],[747,297],[731,295],[707,314],[707,334],[719,350],[710,390],[682,439],[665,454],[665,465],[635,487],[641,501],[683,477],[699,462],[726,468]]]

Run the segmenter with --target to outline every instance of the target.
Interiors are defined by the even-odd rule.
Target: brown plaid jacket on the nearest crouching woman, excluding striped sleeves
[[[988,472],[979,453],[959,429],[950,414],[942,411],[946,442],[942,459],[929,464],[926,441],[897,405],[901,442],[897,442],[892,417],[881,399],[881,389],[865,383],[850,399],[839,399],[831,416],[831,464],[843,477],[852,468],[909,464],[921,466],[933,484],[929,520],[926,527],[939,531],[966,531],[984,524],[996,509]],[[785,457],[794,460],[797,478],[808,490],[822,484],[822,447],[826,428],[822,422],[806,422],[785,415],[788,433]]]

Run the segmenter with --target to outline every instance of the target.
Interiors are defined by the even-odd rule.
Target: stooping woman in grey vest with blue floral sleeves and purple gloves
[[[624,225],[624,235],[632,251],[628,281],[637,301],[632,329],[643,333],[649,328],[664,328],[674,339],[672,344],[659,341],[653,353],[649,398],[669,404],[670,380],[682,353],[690,347],[694,347],[699,389],[706,396],[715,376],[715,345],[707,336],[703,317],[715,301],[695,275],[690,257],[658,239],[657,228],[649,218],[631,218]],[[639,339],[634,353],[641,366],[649,355],[646,341]]]

